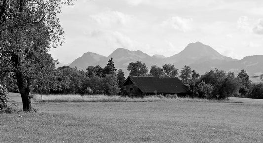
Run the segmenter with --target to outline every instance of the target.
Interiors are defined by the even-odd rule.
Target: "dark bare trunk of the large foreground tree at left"
[[[29,97],[30,80],[23,78],[23,74],[21,72],[16,72],[16,79],[17,79],[17,86],[22,98],[23,111],[30,112],[31,111],[31,101]]]

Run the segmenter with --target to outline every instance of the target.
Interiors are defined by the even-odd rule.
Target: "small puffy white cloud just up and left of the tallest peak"
[[[177,31],[188,32],[193,29],[192,22],[192,18],[182,18],[178,16],[173,16],[163,21],[161,26],[172,27]]]

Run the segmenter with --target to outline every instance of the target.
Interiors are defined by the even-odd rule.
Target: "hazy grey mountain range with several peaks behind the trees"
[[[242,69],[245,69],[249,75],[263,73],[263,55],[247,56],[241,60],[237,60],[221,55],[212,47],[200,42],[190,43],[183,51],[170,57],[164,57],[163,55],[150,56],[140,50],[130,51],[124,48],[116,49],[108,57],[87,52],[75,59],[69,66],[76,66],[80,70],[85,70],[90,65],[104,67],[111,57],[113,58],[115,67],[123,69],[126,76],[128,73],[126,69],[129,63],[136,61],[145,63],[149,70],[152,65],[162,66],[170,63],[174,64],[178,69],[181,69],[184,65],[189,65],[192,70],[200,74],[214,68],[232,71],[236,74]]]

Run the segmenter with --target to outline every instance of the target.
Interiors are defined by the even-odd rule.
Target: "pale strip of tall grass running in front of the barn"
[[[218,100],[208,100],[199,98],[178,98],[165,97],[163,95],[145,96],[145,97],[125,97],[125,96],[107,96],[107,95],[39,95],[33,96],[36,102],[157,102],[157,101],[186,101],[186,102],[228,102]]]

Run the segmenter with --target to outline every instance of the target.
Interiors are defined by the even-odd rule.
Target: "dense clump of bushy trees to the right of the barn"
[[[228,97],[242,97],[263,99],[263,84],[254,84],[245,70],[237,76],[233,72],[214,69],[192,78],[186,84],[191,96],[207,99],[225,99]]]

